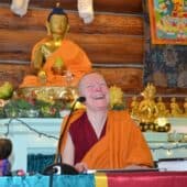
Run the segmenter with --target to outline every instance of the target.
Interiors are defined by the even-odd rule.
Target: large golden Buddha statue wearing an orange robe
[[[53,9],[47,18],[46,28],[47,36],[32,50],[32,75],[24,77],[21,89],[69,85],[76,87],[79,78],[91,70],[91,63],[84,50],[65,38],[69,24],[62,8]]]

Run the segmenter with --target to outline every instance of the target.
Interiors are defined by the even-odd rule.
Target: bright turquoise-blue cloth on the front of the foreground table
[[[53,177],[53,187],[95,187],[94,175],[61,175]],[[0,177],[0,187],[50,187],[50,176]]]

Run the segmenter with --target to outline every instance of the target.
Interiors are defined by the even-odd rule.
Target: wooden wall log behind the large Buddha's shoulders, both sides
[[[30,61],[33,45],[44,35],[46,35],[44,31],[0,30],[0,59],[11,61],[18,55],[20,61]],[[94,64],[142,63],[143,38],[141,36],[69,34],[68,38],[79,44]]]

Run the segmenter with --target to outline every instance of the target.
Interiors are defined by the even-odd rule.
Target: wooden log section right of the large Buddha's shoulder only
[[[70,34],[69,37],[85,48],[94,64],[142,64],[142,37],[112,34]]]

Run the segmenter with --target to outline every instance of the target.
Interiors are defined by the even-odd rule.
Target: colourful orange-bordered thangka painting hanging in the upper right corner
[[[148,0],[153,44],[187,44],[187,0]]]

